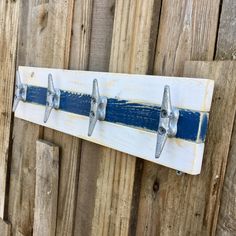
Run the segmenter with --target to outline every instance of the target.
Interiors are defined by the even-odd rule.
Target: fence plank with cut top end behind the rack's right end
[[[208,230],[205,233],[211,235],[215,235],[235,118],[235,72],[236,62],[233,61],[187,62],[185,66],[185,76],[207,77],[215,80],[203,169],[201,175],[192,180],[192,184],[194,181],[198,183],[199,194],[194,193],[194,197],[197,197],[194,205],[200,214],[198,218],[204,220]],[[204,201],[200,202],[199,199],[204,199]],[[198,230],[200,231],[200,228]]]

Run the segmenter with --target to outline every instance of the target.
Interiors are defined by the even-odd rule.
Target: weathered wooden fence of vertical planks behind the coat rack
[[[1,0],[0,235],[236,235],[235,39],[235,0]],[[214,79],[201,175],[14,118],[18,65]]]

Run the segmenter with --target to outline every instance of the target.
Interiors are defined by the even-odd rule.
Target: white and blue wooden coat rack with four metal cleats
[[[178,171],[201,171],[214,81],[19,67],[15,116]]]

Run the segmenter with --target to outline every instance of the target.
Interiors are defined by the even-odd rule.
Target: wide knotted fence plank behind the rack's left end
[[[21,2],[18,64],[65,67],[69,63],[73,0]],[[13,232],[33,231],[36,140],[39,126],[14,120],[8,217]]]

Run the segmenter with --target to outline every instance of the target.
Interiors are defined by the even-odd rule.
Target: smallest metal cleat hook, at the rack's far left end
[[[20,101],[25,102],[27,95],[27,85],[21,83],[19,71],[16,72],[16,85],[15,85],[15,96],[13,102],[13,112],[16,111],[16,108]]]

